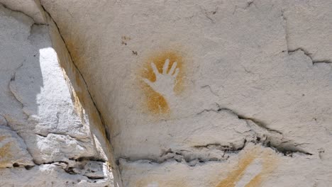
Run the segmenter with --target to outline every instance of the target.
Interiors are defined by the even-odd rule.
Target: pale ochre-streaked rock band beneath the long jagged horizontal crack
[[[206,162],[192,167],[175,161],[157,164],[121,159],[120,165],[124,186],[245,186],[255,176],[262,178],[253,180],[254,186],[314,186],[315,183],[328,186],[329,174],[321,172],[328,166],[310,167],[314,161],[307,159],[299,154],[284,157],[270,148],[248,144],[226,162]],[[240,169],[240,175],[236,169]],[[232,175],[233,178],[227,178]]]

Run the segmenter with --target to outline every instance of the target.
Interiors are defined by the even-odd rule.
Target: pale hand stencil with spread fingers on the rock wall
[[[176,78],[179,74],[179,68],[177,68],[177,62],[172,64],[170,71],[167,72],[170,65],[170,60],[165,60],[165,64],[162,67],[162,73],[160,73],[155,66],[155,63],[151,62],[151,67],[153,73],[155,74],[155,81],[150,81],[149,79],[143,79],[146,84],[148,84],[154,91],[170,98],[174,96],[174,87],[177,84]]]

